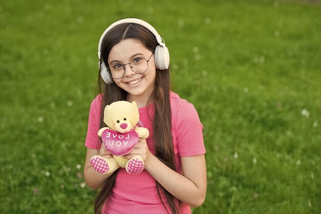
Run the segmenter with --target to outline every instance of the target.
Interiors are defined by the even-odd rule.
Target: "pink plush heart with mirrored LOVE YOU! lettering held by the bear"
[[[102,140],[107,150],[114,155],[125,155],[137,144],[139,136],[136,131],[118,133],[111,129],[103,131]]]

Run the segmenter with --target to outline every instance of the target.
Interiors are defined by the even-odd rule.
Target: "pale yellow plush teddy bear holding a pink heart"
[[[91,164],[100,173],[112,173],[119,167],[126,168],[130,174],[137,174],[144,170],[144,160],[141,155],[127,160],[123,155],[129,153],[138,142],[139,138],[149,136],[147,128],[137,127],[139,112],[137,104],[127,101],[117,101],[105,107],[104,123],[108,127],[98,131],[99,137],[106,149],[113,154],[113,158],[104,158],[95,155]]]

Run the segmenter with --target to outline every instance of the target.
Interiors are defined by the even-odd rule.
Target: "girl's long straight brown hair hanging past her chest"
[[[138,24],[120,24],[112,28],[105,36],[102,43],[102,57],[101,63],[108,66],[108,55],[111,48],[121,42],[126,38],[135,38],[141,42],[148,50],[154,52],[157,44],[155,36],[145,27]],[[104,108],[115,101],[126,100],[127,92],[122,88],[118,87],[116,84],[105,84],[102,80],[100,74],[98,74],[97,82],[98,93],[103,94],[103,101],[101,106],[101,115],[103,115]],[[155,147],[156,157],[170,167],[173,170],[175,168],[174,159],[174,148],[173,140],[171,134],[171,108],[169,101],[170,93],[170,73],[169,69],[158,70],[156,69],[156,77],[154,82],[154,87],[150,92],[148,104],[154,103],[154,118],[153,118],[153,140]],[[103,122],[103,117],[101,116],[99,127],[102,128],[106,126]],[[162,130],[162,131],[159,131]],[[102,212],[102,207],[105,201],[110,196],[114,182],[117,176],[117,171],[115,171],[107,180],[105,185],[99,190],[94,199],[94,209],[95,214]],[[158,182],[156,182],[156,188],[158,193],[158,198],[160,202],[165,206],[165,202],[162,197],[168,202],[171,209],[171,213],[179,213],[179,208],[175,204],[176,199],[170,194],[166,189],[164,189]],[[178,201],[179,207],[181,202]],[[169,210],[167,210],[168,213]]]

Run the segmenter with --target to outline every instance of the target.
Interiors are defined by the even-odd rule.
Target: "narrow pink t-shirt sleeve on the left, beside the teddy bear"
[[[101,111],[101,102],[102,96],[99,94],[90,105],[85,146],[91,149],[100,149],[101,147],[101,140],[99,139],[99,136],[97,134],[99,131],[99,112]]]

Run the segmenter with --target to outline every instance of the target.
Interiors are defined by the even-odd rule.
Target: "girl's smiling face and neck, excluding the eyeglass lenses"
[[[133,38],[127,38],[114,45],[108,56],[108,64],[120,63],[127,64],[137,57],[143,57],[146,60],[153,54],[142,43]],[[121,79],[114,79],[117,86],[128,92],[128,101],[148,100],[149,94],[153,89],[156,76],[156,67],[154,57],[148,62],[148,69],[144,73],[135,73],[130,65],[125,65],[125,75]],[[139,101],[138,101],[139,102]]]

